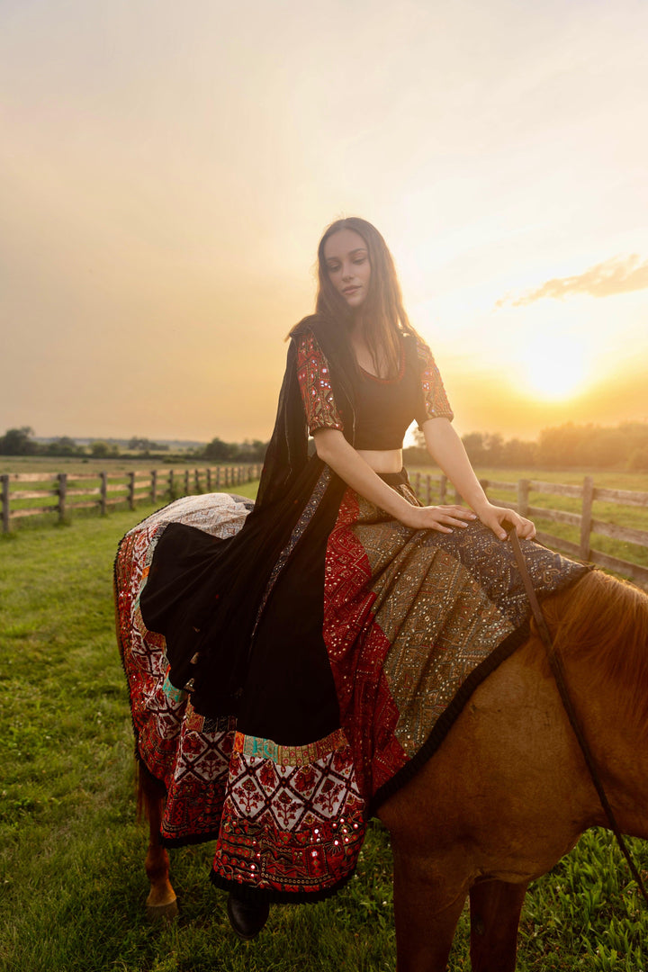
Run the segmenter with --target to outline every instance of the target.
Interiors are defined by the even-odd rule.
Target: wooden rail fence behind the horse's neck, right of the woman
[[[622,540],[634,544],[638,547],[648,548],[648,531],[636,530],[631,527],[622,527],[615,523],[597,519],[593,513],[593,504],[615,503],[623,506],[643,507],[646,510],[646,525],[648,526],[648,493],[635,493],[631,490],[622,489],[603,489],[594,485],[592,476],[585,476],[582,486],[567,486],[561,483],[547,483],[538,479],[520,479],[517,483],[502,482],[496,479],[480,480],[487,495],[495,490],[515,494],[514,500],[502,500],[497,498],[495,503],[498,506],[506,506],[508,509],[516,509],[523,516],[531,519],[550,520],[554,523],[564,523],[576,528],[579,535],[579,542],[555,537],[553,534],[537,532],[537,539],[541,543],[560,550],[562,553],[580,560],[586,560],[591,564],[597,564],[607,571],[621,573],[648,590],[648,568],[640,564],[632,563],[630,560],[623,560],[620,557],[612,557],[610,554],[597,550],[592,546],[592,534],[599,537],[607,537],[613,540]],[[447,499],[448,480],[444,475],[430,475],[422,472],[415,472],[412,476],[412,485],[419,498],[427,504],[430,503],[460,503],[459,495],[454,492],[451,500]],[[529,503],[530,493],[551,494],[553,496],[569,497],[580,500],[580,512],[568,512],[563,509],[549,509],[545,506],[533,506]]]

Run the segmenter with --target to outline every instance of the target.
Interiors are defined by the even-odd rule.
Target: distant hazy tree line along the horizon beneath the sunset
[[[91,456],[112,459],[132,456],[152,457],[165,454],[166,461],[207,460],[213,463],[262,463],[267,442],[246,439],[225,442],[218,436],[211,442],[172,455],[169,446],[134,435],[123,451],[114,440],[97,439],[79,445],[66,435],[50,442],[36,442],[28,426],[9,429],[0,435],[2,456]],[[405,449],[408,466],[425,466],[431,460],[426,453],[423,434],[415,433],[417,444]],[[504,439],[498,433],[471,432],[462,442],[473,466],[512,469],[630,469],[648,471],[648,422],[622,422],[620,425],[575,425],[543,429],[537,441]]]

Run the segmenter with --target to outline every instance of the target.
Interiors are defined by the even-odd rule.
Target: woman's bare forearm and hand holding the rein
[[[465,502],[474,509],[482,523],[493,530],[496,537],[506,538],[504,521],[515,526],[518,537],[535,537],[535,527],[530,520],[520,516],[515,510],[494,506],[487,499],[470,465],[463,443],[448,419],[428,419],[422,429],[426,436],[427,451],[432,459],[443,469]]]

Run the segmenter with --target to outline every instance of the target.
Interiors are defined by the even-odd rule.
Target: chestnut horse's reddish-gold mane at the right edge
[[[648,595],[592,571],[543,601],[542,610],[567,664],[591,662],[591,686],[617,696],[648,731]],[[534,620],[531,635],[539,640]]]

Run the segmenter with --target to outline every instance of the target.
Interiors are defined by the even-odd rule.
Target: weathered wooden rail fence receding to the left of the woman
[[[151,469],[130,472],[16,472],[0,476],[2,530],[9,533],[12,520],[52,513],[59,521],[75,509],[98,509],[138,500],[162,503],[189,493],[211,493],[258,479],[261,467],[216,466],[210,469]],[[26,489],[22,484],[29,484]],[[16,486],[18,488],[16,488]],[[41,500],[48,503],[34,504]]]

